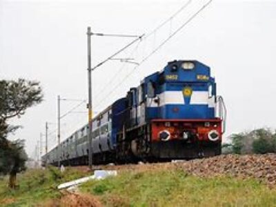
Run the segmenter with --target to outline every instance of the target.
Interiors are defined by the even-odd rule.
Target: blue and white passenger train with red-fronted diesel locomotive
[[[125,97],[41,157],[43,164],[77,166],[195,159],[221,154],[226,106],[210,67],[196,60],[170,61]],[[89,148],[91,146],[92,148]]]

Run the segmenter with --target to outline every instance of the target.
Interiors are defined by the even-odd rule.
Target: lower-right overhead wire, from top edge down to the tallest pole
[[[145,61],[147,61],[152,55],[155,54],[155,52],[157,52],[158,50],[161,49],[162,46],[164,46],[165,43],[167,43],[172,37],[175,36],[175,34],[177,34],[180,30],[182,30],[188,23],[190,23],[190,21],[192,21],[193,19],[195,19],[195,17],[197,17],[197,15],[204,10],[204,8],[206,8],[213,0],[208,1],[207,3],[204,4],[204,6],[201,6],[201,8],[199,10],[197,10],[197,12],[195,12],[193,15],[190,16],[190,18],[188,18],[187,21],[185,21],[183,24],[181,24],[181,26],[179,26],[179,28],[177,28],[177,30],[175,30],[174,32],[172,32],[172,34],[170,34],[164,41],[162,41],[159,46],[157,46],[154,50],[152,50],[152,52],[150,52],[149,55],[147,55],[146,57],[144,57],[144,59],[142,59],[139,62],[139,65],[135,66],[134,68],[132,68],[132,70],[130,72],[128,72],[128,74],[124,77],[124,79],[122,81],[120,81],[115,87],[112,87],[112,90],[108,93],[108,95],[106,95],[105,97],[103,97],[103,99],[100,99],[97,103],[95,103],[95,105],[99,105],[101,104],[104,100],[106,100],[108,98],[109,95],[111,95],[113,92],[115,92],[115,90],[121,86],[122,83],[124,83],[124,81],[126,79],[128,79],[128,77],[130,77],[130,75],[132,75],[132,72],[137,69],[139,66],[141,66],[142,63],[144,63]]]

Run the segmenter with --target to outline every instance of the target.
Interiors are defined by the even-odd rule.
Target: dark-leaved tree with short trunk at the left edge
[[[41,103],[42,99],[42,90],[37,81],[0,81],[0,173],[10,175],[10,188],[15,187],[17,173],[25,170],[27,155],[22,140],[8,140],[8,134],[19,128],[10,126],[8,120],[20,118],[27,108]]]

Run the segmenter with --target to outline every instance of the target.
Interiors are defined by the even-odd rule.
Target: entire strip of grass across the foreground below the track
[[[14,190],[6,187],[6,178],[0,180],[0,206],[89,206],[88,201],[96,207],[276,206],[276,189],[253,178],[200,177],[186,173],[178,164],[113,168],[119,170],[117,177],[88,181],[72,195],[57,190],[57,186],[91,172],[66,168],[61,174],[52,167],[27,170],[19,175],[19,187]]]

